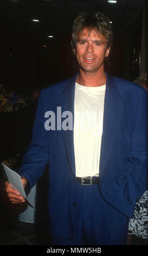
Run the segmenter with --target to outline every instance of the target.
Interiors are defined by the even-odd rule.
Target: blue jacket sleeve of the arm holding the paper
[[[28,179],[30,188],[43,175],[49,160],[48,131],[44,128],[45,112],[46,103],[42,90],[38,100],[33,138],[27,153],[23,157],[22,167],[18,171],[20,175]]]

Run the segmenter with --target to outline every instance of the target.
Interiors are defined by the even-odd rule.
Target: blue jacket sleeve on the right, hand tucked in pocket
[[[145,89],[140,90],[138,104],[134,112],[132,126],[132,159],[133,180],[137,190],[137,199],[143,196],[147,190],[147,166],[148,166],[148,100]]]

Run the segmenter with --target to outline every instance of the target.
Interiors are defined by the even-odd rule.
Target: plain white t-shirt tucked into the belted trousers
[[[78,177],[99,173],[105,89],[106,84],[86,87],[75,83],[74,153]]]

